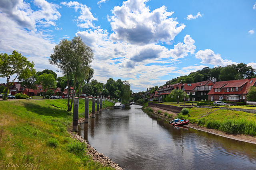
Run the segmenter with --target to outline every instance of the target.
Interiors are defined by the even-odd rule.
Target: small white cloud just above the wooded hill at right
[[[199,50],[195,57],[197,59],[201,59],[203,64],[212,64],[214,66],[226,66],[229,64],[236,64],[231,60],[223,60],[220,54],[214,54],[214,52],[210,49]]]

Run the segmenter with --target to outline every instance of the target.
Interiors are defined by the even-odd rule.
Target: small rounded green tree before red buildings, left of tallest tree
[[[46,74],[46,73],[38,76],[36,83],[42,84],[42,89],[44,90],[44,93],[45,93],[45,90],[48,88],[56,88],[56,84],[57,84],[55,81],[54,75]],[[44,94],[43,94],[43,98],[44,98]]]

